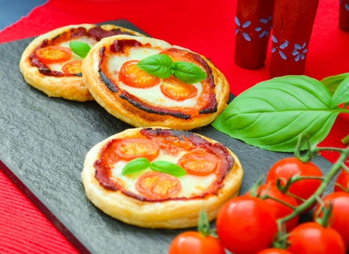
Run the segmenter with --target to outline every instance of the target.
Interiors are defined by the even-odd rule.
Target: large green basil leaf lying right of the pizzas
[[[237,96],[212,123],[218,131],[259,148],[293,152],[300,134],[322,141],[340,112],[328,89],[306,76],[261,82]],[[307,144],[302,146],[302,150]]]

